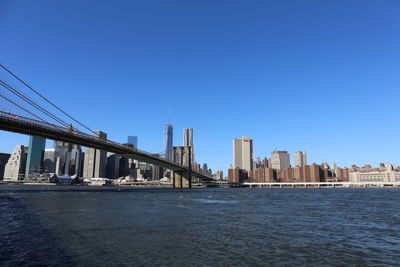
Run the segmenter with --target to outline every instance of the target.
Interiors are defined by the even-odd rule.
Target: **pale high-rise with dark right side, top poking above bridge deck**
[[[96,137],[107,140],[107,134],[96,132]],[[87,148],[83,166],[84,178],[106,178],[107,152],[95,148]]]

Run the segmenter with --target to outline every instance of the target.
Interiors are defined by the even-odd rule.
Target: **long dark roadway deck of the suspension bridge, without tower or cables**
[[[121,154],[140,162],[147,162],[174,172],[188,173],[189,167],[177,164],[173,161],[155,156],[151,153],[128,147],[110,140],[100,139],[80,132],[74,128],[64,128],[47,122],[22,117],[12,113],[0,111],[0,130],[20,134],[41,136],[51,140],[64,141],[84,147],[105,150],[115,154]],[[192,170],[192,176],[203,181],[214,181],[208,175]]]

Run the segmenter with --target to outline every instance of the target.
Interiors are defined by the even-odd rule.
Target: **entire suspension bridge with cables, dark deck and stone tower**
[[[0,68],[6,74],[0,77],[0,88],[3,89],[0,91],[0,130],[64,141],[154,164],[171,170],[175,188],[191,188],[193,178],[202,181],[214,180],[208,174],[192,169],[190,147],[189,160],[184,164],[182,157],[175,159],[174,155],[174,160],[168,160],[147,151],[101,138],[90,127],[54,104],[7,67],[0,64]],[[20,89],[21,86],[25,91]],[[35,98],[27,94],[26,90]],[[51,110],[48,107],[51,107]]]

